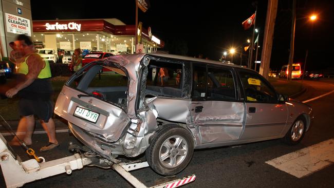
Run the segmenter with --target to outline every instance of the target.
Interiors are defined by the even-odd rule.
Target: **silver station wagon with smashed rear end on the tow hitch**
[[[55,114],[109,161],[144,152],[161,175],[181,172],[197,148],[282,138],[299,143],[312,109],[257,72],[169,54],[109,57],[64,85]]]

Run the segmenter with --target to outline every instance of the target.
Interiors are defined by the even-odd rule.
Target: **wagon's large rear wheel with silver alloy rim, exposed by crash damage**
[[[190,132],[178,125],[165,125],[146,149],[146,160],[156,173],[171,176],[187,167],[193,153],[194,140]]]

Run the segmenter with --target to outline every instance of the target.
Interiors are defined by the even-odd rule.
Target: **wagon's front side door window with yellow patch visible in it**
[[[239,71],[247,102],[277,103],[277,97],[272,87],[264,78],[249,71]]]

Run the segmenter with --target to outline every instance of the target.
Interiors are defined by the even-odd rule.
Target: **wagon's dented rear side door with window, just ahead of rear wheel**
[[[233,69],[193,64],[191,120],[201,144],[237,140],[243,130],[244,103],[237,101]]]

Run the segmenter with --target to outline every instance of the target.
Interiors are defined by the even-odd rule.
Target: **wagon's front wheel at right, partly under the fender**
[[[306,120],[303,116],[300,116],[293,122],[288,133],[283,138],[283,142],[288,145],[296,145],[304,138],[305,131]]]

